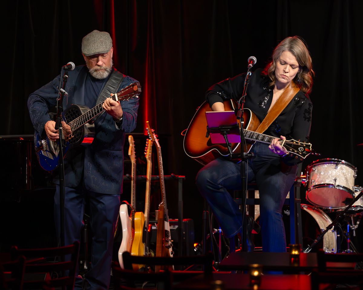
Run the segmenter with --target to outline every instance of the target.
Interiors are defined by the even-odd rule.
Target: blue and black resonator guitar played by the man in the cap
[[[123,101],[138,95],[141,92],[140,83],[135,82],[117,92],[111,99]],[[92,119],[101,114],[104,101],[94,108],[89,109],[85,105],[70,105],[62,113],[62,133],[63,136],[58,141],[51,141],[45,134],[34,133],[34,146],[40,166],[47,171],[52,171],[59,164],[59,149],[62,146],[64,156],[68,150],[85,143],[91,143],[94,137],[94,124]]]

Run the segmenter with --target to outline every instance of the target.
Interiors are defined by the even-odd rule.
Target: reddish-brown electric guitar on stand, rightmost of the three
[[[170,235],[170,224],[168,216],[168,208],[166,204],[166,194],[165,194],[165,183],[164,183],[164,171],[163,171],[163,159],[161,155],[161,147],[159,144],[158,136],[155,134],[154,130],[151,129],[149,122],[147,124],[147,132],[149,137],[154,142],[157,153],[158,153],[158,167],[159,167],[159,179],[160,179],[160,190],[162,193],[162,201],[159,204],[158,211],[158,231],[156,233],[156,257],[172,257],[174,252],[172,250],[173,244],[171,243]],[[170,270],[174,270],[171,266]],[[155,272],[158,273],[161,267],[156,265]]]

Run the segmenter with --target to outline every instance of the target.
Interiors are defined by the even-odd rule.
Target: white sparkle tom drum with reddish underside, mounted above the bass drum
[[[350,163],[333,158],[319,159],[306,168],[306,199],[322,208],[344,208],[354,197],[357,169]]]

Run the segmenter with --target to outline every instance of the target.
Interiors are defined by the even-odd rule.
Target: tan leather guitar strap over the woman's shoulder
[[[265,119],[257,127],[255,132],[263,133],[270,127],[272,122],[281,114],[294,96],[299,92],[299,87],[294,82],[290,82],[290,85],[281,94],[280,98],[276,101],[270,111],[267,113]]]

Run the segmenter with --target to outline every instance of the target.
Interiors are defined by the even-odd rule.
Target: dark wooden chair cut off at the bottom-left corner
[[[22,290],[24,281],[25,257],[0,264],[0,288]]]

